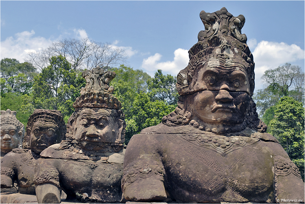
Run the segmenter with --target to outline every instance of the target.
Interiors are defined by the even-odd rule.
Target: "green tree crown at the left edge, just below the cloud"
[[[36,68],[28,63],[19,63],[16,59],[1,60],[1,94],[14,92],[28,94],[33,86],[33,78],[37,75]]]

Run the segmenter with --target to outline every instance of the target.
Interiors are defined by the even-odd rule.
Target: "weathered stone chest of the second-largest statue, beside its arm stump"
[[[63,160],[59,172],[60,181],[65,186],[75,190],[84,186],[98,189],[120,183],[123,164]]]

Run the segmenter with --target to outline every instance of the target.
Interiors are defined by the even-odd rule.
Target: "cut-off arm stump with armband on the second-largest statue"
[[[59,173],[54,168],[54,159],[37,160],[34,184],[38,203],[60,203]]]

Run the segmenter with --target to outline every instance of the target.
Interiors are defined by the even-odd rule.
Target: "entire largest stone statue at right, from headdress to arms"
[[[178,107],[133,135],[122,190],[138,202],[304,202],[304,182],[252,100],[243,15],[201,11],[205,30],[177,76]],[[299,201],[297,201],[299,202]]]

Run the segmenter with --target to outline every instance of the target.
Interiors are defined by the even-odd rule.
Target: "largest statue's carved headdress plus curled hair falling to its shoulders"
[[[163,124],[167,126],[190,124],[194,128],[204,129],[192,120],[192,114],[186,110],[184,95],[207,90],[207,87],[196,85],[197,80],[202,80],[198,78],[199,69],[206,63],[211,68],[221,65],[222,69],[232,70],[238,67],[249,77],[248,94],[252,96],[254,91],[255,64],[246,44],[247,36],[241,34],[245,23],[244,16],[234,17],[223,7],[212,14],[201,11],[200,18],[205,30],[198,33],[198,42],[188,51],[190,59],[188,66],[177,75],[176,89],[180,97],[175,111],[162,118]],[[256,104],[251,97],[245,123],[248,127],[260,132],[265,132],[267,129],[267,126],[258,118]]]

